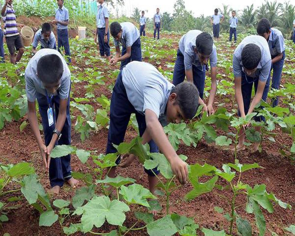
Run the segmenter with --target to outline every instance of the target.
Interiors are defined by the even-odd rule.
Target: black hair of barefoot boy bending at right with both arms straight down
[[[261,50],[254,43],[247,44],[242,50],[242,64],[247,70],[255,69],[261,59]]]

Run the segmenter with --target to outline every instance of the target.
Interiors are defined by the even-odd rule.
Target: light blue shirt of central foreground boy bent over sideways
[[[166,104],[174,87],[153,65],[132,61],[122,69],[122,82],[127,97],[137,112],[150,109],[158,116],[165,114]]]

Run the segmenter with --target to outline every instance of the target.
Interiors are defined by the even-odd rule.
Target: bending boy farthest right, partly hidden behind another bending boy
[[[273,89],[280,89],[282,70],[285,60],[285,43],[283,34],[278,29],[271,28],[270,22],[265,18],[258,22],[257,33],[267,40],[269,51],[271,53],[271,70],[273,70],[271,87]],[[269,78],[271,78],[271,71],[269,72]],[[278,97],[272,101],[273,107],[277,105]]]

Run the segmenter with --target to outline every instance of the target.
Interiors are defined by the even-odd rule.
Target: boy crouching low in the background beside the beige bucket
[[[37,53],[38,42],[41,43],[41,49],[51,48],[56,50],[55,36],[52,32],[51,25],[49,23],[42,24],[42,28],[35,34],[34,41],[32,43],[32,53]]]

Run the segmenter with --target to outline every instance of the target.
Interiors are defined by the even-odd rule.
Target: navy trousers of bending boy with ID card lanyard
[[[70,89],[71,91],[71,89]],[[53,135],[53,130],[55,129],[55,122],[58,118],[60,98],[59,94],[53,96],[50,107],[53,109],[53,121],[54,124],[49,127],[47,110],[49,107],[47,97],[43,94],[37,93],[37,101],[39,105],[39,112],[42,118],[42,126],[45,137],[45,145],[48,146]],[[70,145],[71,144],[71,117],[70,117],[70,94],[68,97],[67,104],[67,116],[65,119],[65,124],[61,131],[61,138],[56,142],[56,145]],[[71,178],[71,155],[67,155],[61,158],[51,158],[49,166],[49,179],[51,187],[56,185],[63,186],[64,181]]]

